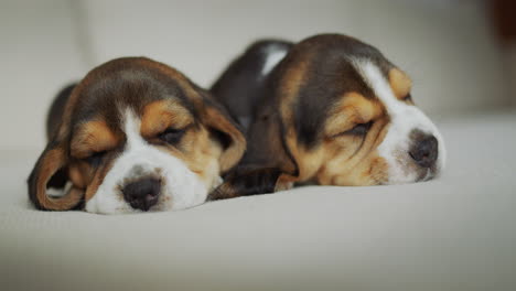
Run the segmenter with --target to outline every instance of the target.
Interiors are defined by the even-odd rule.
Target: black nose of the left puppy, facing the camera
[[[129,183],[122,188],[123,198],[135,209],[149,211],[160,196],[161,183],[157,179],[146,177]]]

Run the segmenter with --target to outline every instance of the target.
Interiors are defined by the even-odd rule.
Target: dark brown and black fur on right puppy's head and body
[[[222,103],[230,105],[239,98],[247,107],[228,106],[229,111],[239,117],[250,111],[251,120],[247,129],[248,150],[226,182],[211,195],[212,200],[272,193],[293,183],[311,183],[312,176],[301,173],[302,158],[292,152],[294,148],[310,151],[325,142],[322,133],[329,111],[344,94],[356,91],[374,98],[348,56],[367,58],[385,74],[394,67],[368,44],[345,35],[322,34],[298,44],[279,42],[289,52],[261,79],[258,76],[261,67],[249,60],[256,60],[252,52],[273,44],[273,41],[252,44],[212,88]],[[252,69],[255,75],[249,77]],[[236,72],[246,72],[244,80]],[[289,140],[297,146],[289,146]]]

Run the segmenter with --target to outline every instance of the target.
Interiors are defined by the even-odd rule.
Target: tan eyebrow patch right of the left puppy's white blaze
[[[175,100],[153,101],[143,108],[140,132],[144,138],[154,137],[169,127],[185,128],[193,123],[190,111]]]

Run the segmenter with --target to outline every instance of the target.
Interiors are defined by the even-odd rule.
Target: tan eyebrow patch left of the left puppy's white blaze
[[[86,158],[93,152],[101,152],[117,147],[120,138],[104,120],[88,121],[79,126],[71,143],[72,155]]]

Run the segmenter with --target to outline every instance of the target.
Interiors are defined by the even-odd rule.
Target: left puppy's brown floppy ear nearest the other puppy
[[[201,89],[203,123],[218,138],[223,146],[219,159],[221,172],[225,173],[240,161],[246,151],[246,138],[239,125],[229,116],[226,109],[216,103],[209,93]]]

